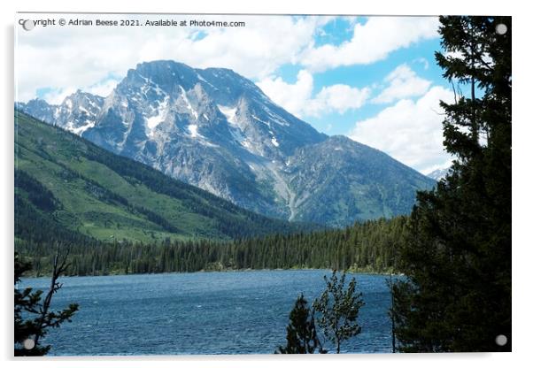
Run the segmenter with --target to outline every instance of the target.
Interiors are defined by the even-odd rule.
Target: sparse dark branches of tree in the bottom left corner
[[[73,314],[78,311],[78,304],[70,304],[63,311],[50,311],[52,296],[62,287],[58,278],[68,267],[67,257],[68,252],[61,254],[58,248],[58,253],[54,257],[50,289],[42,299],[42,290],[34,291],[32,288],[19,290],[17,288],[22,275],[31,270],[31,264],[22,261],[19,254],[15,253],[14,355],[16,357],[35,357],[47,354],[50,345],[42,345],[42,337],[48,333],[50,328],[57,328],[66,321],[70,322]]]

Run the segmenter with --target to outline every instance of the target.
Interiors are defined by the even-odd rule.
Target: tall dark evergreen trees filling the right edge
[[[408,277],[392,288],[398,348],[510,351],[511,18],[440,21],[436,60],[457,92],[441,103],[444,146],[455,160],[435,190],[419,193],[398,253]]]

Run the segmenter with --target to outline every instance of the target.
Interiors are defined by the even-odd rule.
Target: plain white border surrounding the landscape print
[[[417,4],[418,3],[418,4]],[[516,2],[518,3],[518,2]],[[521,366],[530,362],[529,350],[533,326],[531,326],[530,306],[533,297],[529,283],[530,263],[533,259],[532,242],[527,231],[530,219],[529,212],[533,208],[531,201],[531,160],[529,149],[532,135],[531,117],[526,111],[526,99],[530,99],[531,78],[529,49],[531,48],[531,13],[526,2],[513,4],[506,1],[493,0],[446,0],[439,3],[415,0],[368,2],[348,2],[346,0],[306,1],[301,4],[287,0],[268,0],[261,4],[242,0],[195,0],[184,3],[165,0],[150,0],[132,4],[126,0],[91,0],[84,4],[62,2],[59,0],[25,0],[24,2],[8,2],[2,4],[2,80],[4,94],[2,103],[3,120],[0,124],[2,134],[2,179],[0,188],[4,208],[0,221],[3,234],[2,249],[2,302],[0,302],[3,319],[0,333],[0,350],[4,366],[35,367],[92,367],[113,365],[120,367],[161,366],[222,366],[222,367],[269,367],[273,364],[293,366],[305,364],[323,366],[324,364],[343,364],[358,366],[394,366],[396,367],[449,367],[456,364],[474,364],[486,367]],[[497,14],[513,16],[513,73],[514,73],[514,171],[513,171],[513,353],[502,354],[421,354],[421,355],[344,355],[344,356],[313,356],[313,357],[282,357],[282,356],[236,356],[236,357],[44,357],[23,358],[12,357],[12,251],[13,251],[13,40],[15,12],[188,12],[188,13],[284,13],[284,14],[380,14],[380,15],[436,15],[436,14]],[[529,87],[529,88],[528,88]],[[529,98],[528,98],[529,97]],[[7,327],[10,328],[7,328]],[[96,362],[97,361],[97,362]],[[149,363],[150,362],[150,363]]]

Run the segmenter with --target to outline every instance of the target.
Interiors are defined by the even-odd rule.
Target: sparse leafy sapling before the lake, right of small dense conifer
[[[341,343],[360,334],[361,326],[357,323],[359,309],[365,304],[362,293],[356,293],[356,281],[351,279],[348,288],[344,288],[346,272],[340,279],[333,271],[331,277],[324,276],[326,289],[313,303],[318,312],[317,324],[321,326],[324,336],[336,346],[336,353],[341,352]]]

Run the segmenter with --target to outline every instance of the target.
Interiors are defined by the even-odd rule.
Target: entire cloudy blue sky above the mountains
[[[344,134],[421,173],[450,165],[439,101],[435,17],[20,14],[67,26],[16,28],[16,99],[61,103],[76,89],[107,96],[127,70],[172,59],[226,67],[328,135]],[[92,19],[93,26],[68,25]],[[97,19],[243,21],[244,27],[105,27]]]

